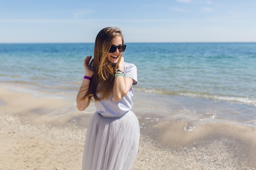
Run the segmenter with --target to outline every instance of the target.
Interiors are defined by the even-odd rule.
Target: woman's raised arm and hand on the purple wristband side
[[[85,76],[88,76],[88,77],[92,77],[92,75],[94,74],[94,71],[92,70],[93,59],[90,62],[91,58],[92,58],[92,56],[87,56],[85,58],[85,60],[83,61],[83,66],[85,69]],[[89,85],[90,85],[90,80],[83,79],[82,85],[81,85],[79,92],[76,96],[76,108],[80,111],[85,110],[85,108],[87,108],[91,102],[91,100],[89,100],[88,98],[82,100],[82,98],[88,92]]]

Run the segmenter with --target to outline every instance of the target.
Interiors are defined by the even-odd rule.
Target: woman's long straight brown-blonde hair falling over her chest
[[[94,75],[90,81],[88,93],[82,99],[88,98],[92,100],[93,97],[95,101],[100,101],[113,96],[114,72],[118,67],[122,54],[117,63],[109,62],[107,55],[113,40],[117,37],[121,37],[124,44],[123,35],[120,29],[116,27],[107,27],[98,33],[94,45]],[[100,96],[98,97],[97,94]]]

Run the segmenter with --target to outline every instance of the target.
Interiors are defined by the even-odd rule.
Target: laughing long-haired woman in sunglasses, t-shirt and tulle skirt
[[[94,59],[84,60],[85,76],[76,98],[78,110],[93,100],[83,153],[83,170],[130,170],[139,147],[139,121],[132,108],[137,68],[124,62],[126,49],[118,28],[102,29],[95,40]]]

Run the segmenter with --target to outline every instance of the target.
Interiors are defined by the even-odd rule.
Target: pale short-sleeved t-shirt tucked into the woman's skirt
[[[137,84],[137,68],[134,64],[124,62],[124,76],[133,79],[132,85]],[[118,102],[115,102],[112,97],[108,100],[95,101],[95,107],[97,112],[102,116],[115,117],[124,115],[132,108],[132,97],[134,91],[131,86],[128,93]]]

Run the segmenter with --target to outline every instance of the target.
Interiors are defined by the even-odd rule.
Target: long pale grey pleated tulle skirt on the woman
[[[123,117],[90,120],[83,152],[83,170],[130,170],[139,148],[139,121],[132,111]]]

